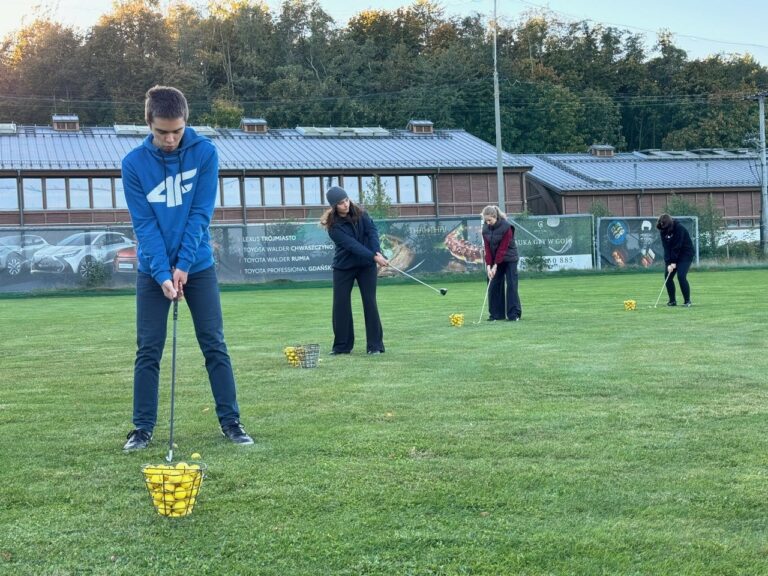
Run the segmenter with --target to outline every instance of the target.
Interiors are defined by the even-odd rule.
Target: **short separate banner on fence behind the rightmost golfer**
[[[699,220],[692,216],[675,216],[688,230],[699,262]],[[597,219],[597,267],[650,268],[664,263],[664,247],[656,218],[611,217]]]

